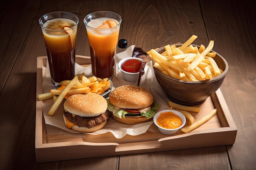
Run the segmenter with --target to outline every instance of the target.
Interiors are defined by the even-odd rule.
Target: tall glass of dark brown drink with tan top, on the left
[[[39,19],[47,51],[52,82],[57,85],[75,76],[76,32],[79,18],[73,13],[57,11]]]

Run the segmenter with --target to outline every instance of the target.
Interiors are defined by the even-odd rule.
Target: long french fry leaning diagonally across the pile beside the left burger
[[[67,95],[67,92],[70,91],[70,89],[76,84],[78,81],[78,77],[75,76],[69,84],[61,91],[60,95],[57,97],[56,101],[53,103],[52,107],[50,108],[48,115],[52,116],[54,115],[55,111],[57,110],[58,106],[60,106],[62,100],[64,99],[65,95]]]

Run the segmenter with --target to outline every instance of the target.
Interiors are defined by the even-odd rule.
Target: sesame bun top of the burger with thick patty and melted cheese
[[[71,95],[63,104],[64,109],[81,117],[94,117],[105,113],[108,103],[96,93]]]

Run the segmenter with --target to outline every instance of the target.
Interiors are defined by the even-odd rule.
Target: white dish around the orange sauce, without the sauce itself
[[[182,120],[182,124],[180,127],[178,128],[175,128],[175,129],[167,129],[167,128],[163,128],[161,126],[159,126],[157,124],[157,119],[158,117],[160,116],[161,113],[166,113],[166,112],[172,112],[174,113],[175,115],[179,116],[180,119]],[[175,133],[178,132],[178,130],[180,130],[185,124],[186,124],[186,117],[180,113],[179,111],[177,110],[170,110],[170,109],[166,109],[166,110],[161,110],[159,112],[157,112],[155,115],[154,115],[154,118],[153,118],[153,121],[154,121],[154,124],[157,126],[158,130],[164,134],[164,135],[174,135]]]

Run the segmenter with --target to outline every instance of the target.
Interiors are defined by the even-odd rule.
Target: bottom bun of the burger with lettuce
[[[129,125],[133,125],[133,124],[139,124],[139,123],[143,123],[143,122],[147,122],[147,121],[150,121],[153,119],[153,117],[151,117],[150,119],[148,119],[147,117],[145,116],[134,116],[134,117],[131,117],[131,116],[125,116],[122,117],[122,118],[119,118],[119,117],[116,117],[113,115],[113,113],[111,113],[111,117],[116,120],[116,121],[119,121],[123,124],[129,124]]]

